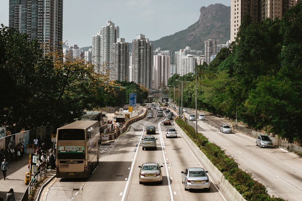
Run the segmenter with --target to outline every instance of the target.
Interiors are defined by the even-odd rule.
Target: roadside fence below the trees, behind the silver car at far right
[[[255,130],[251,130],[251,129],[248,129],[246,127],[242,127],[242,126],[238,126],[238,125],[235,125],[235,128],[236,128],[236,130],[242,131],[242,132],[247,133],[249,135],[252,135],[253,137],[256,137],[256,138],[259,135],[267,135],[265,133],[259,133]],[[288,150],[291,150],[291,151],[294,151],[294,152],[297,152],[297,153],[302,153],[302,147],[301,146],[295,145],[294,143],[289,143],[285,140],[278,139],[276,137],[272,137],[272,136],[269,136],[269,137],[271,138],[271,141],[274,145],[283,147],[285,149],[288,149]]]

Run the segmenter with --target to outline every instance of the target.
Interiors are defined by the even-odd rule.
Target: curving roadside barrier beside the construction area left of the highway
[[[117,137],[119,137],[122,133],[124,133],[128,129],[130,124],[132,124],[133,122],[136,122],[136,121],[140,121],[148,115],[148,110],[146,108],[144,108],[144,109],[145,109],[145,112],[142,115],[127,120],[123,127],[121,127],[121,128],[117,127],[116,130],[110,134],[101,135],[101,140],[102,141],[103,140],[113,140],[113,139],[116,139]]]

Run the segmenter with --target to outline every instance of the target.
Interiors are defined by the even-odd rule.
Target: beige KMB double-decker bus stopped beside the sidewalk
[[[98,121],[75,121],[57,129],[56,177],[87,178],[98,164]]]

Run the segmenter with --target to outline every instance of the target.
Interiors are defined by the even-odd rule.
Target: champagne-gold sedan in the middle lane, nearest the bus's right
[[[143,182],[159,182],[162,184],[162,165],[158,163],[144,163],[140,168],[140,184]]]

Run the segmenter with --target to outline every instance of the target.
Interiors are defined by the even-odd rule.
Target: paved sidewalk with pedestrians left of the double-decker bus
[[[29,154],[24,154],[23,159],[13,162],[14,163],[8,163],[5,180],[3,179],[2,171],[0,174],[0,198],[2,197],[4,200],[6,199],[6,193],[11,188],[14,189],[16,200],[21,200],[28,186],[25,185],[25,173],[29,171]],[[55,175],[56,170],[47,171],[47,179],[44,182],[48,182],[49,179]],[[37,193],[38,192],[36,192],[36,195]]]

